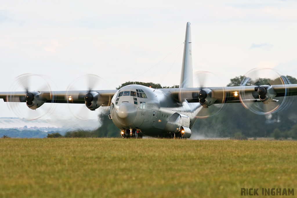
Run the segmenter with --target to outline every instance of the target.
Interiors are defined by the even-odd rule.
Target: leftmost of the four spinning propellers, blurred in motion
[[[19,118],[24,118],[26,120],[36,120],[49,116],[53,113],[55,106],[53,103],[42,104],[42,107],[32,110],[26,103],[30,106],[34,100],[34,94],[30,91],[46,91],[52,92],[52,87],[54,86],[53,81],[45,75],[36,75],[36,74],[22,74],[15,78],[15,81],[12,83],[10,94],[7,97],[7,106],[12,110],[15,115]],[[25,92],[25,96],[20,96],[18,92]]]

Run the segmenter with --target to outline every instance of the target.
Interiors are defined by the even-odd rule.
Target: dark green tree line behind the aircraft
[[[296,78],[291,76],[286,77],[291,84],[297,84]],[[244,76],[232,78],[227,86],[239,86],[243,78]],[[262,81],[265,80],[267,81],[267,79],[262,79]],[[117,89],[129,84],[133,84],[133,82],[125,82]],[[152,88],[178,88],[178,85],[163,87],[155,83],[136,82],[136,84],[151,86]],[[246,139],[246,137],[274,137],[276,139],[292,137],[293,139],[297,139],[297,96],[289,96],[289,98],[290,105],[282,111],[272,113],[269,116],[252,113],[245,109],[241,103],[224,104],[218,115],[206,119],[197,119],[191,129],[192,134],[204,137],[238,137],[236,139]],[[121,137],[120,129],[108,118],[109,113],[109,108],[105,108],[99,114],[98,117],[102,125],[98,129],[92,131],[69,131],[63,137]],[[12,134],[15,134],[13,137],[24,136],[20,132],[17,132],[17,129],[12,129],[12,132]],[[44,133],[38,135],[38,132],[29,130],[28,132],[23,130],[22,133],[35,133],[30,137],[46,136]],[[54,137],[57,136],[57,133],[59,132],[48,132],[47,136]],[[1,134],[4,134],[3,130],[0,130]]]

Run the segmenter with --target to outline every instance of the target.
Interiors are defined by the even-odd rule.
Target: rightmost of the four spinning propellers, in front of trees
[[[267,88],[262,85],[284,85],[290,84],[286,77],[281,76],[276,70],[270,68],[255,68],[244,75],[241,86],[255,86],[255,91],[239,93],[241,104],[258,115],[268,115],[284,109],[290,104],[287,97],[278,97],[271,102],[247,102],[249,99],[265,99]],[[285,93],[286,95],[287,93]]]

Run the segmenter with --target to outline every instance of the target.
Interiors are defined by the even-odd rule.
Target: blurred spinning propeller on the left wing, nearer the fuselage
[[[110,89],[108,86],[108,83],[101,77],[94,75],[94,74],[86,74],[83,76],[80,76],[73,80],[67,87],[67,102],[73,103],[73,100],[69,100],[68,96],[70,96],[71,91],[78,91],[78,90],[85,90],[82,91],[81,94],[83,94],[84,100],[86,101],[86,105],[89,105],[93,99],[94,96],[90,92],[94,92],[96,90],[105,90]],[[79,93],[79,92],[77,92]],[[76,99],[75,97],[78,96],[72,96],[73,99]],[[110,98],[111,99],[111,98]],[[91,119],[97,119],[99,111],[91,111],[86,107],[85,104],[69,104],[69,110],[72,113],[72,115],[75,118],[78,118],[80,120],[91,120]]]

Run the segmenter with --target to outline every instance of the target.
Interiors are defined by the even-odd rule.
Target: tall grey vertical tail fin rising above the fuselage
[[[192,36],[191,23],[187,23],[184,44],[183,63],[181,67],[181,82],[179,88],[193,87],[193,64],[192,64]]]

